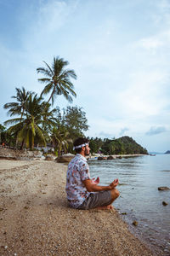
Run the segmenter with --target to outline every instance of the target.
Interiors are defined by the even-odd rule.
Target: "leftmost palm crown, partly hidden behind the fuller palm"
[[[8,109],[8,115],[20,115],[20,119],[22,119],[23,114],[26,111],[26,102],[30,95],[33,95],[34,92],[26,91],[24,87],[20,90],[20,88],[15,88],[16,96],[11,96],[11,98],[16,99],[17,102],[9,102],[4,104],[3,108]]]

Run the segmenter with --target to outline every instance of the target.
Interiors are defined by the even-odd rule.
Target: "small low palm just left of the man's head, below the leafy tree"
[[[60,156],[62,151],[66,153],[69,147],[69,143],[72,143],[72,140],[71,138],[69,138],[69,135],[69,132],[66,131],[64,127],[60,127],[58,129],[54,127],[51,138],[55,153],[58,154],[58,157]]]

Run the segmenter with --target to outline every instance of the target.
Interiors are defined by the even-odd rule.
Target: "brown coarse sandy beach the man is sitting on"
[[[160,255],[114,210],[67,206],[64,164],[0,160],[0,255]]]

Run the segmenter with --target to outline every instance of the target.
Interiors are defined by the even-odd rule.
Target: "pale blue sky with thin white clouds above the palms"
[[[86,136],[170,149],[170,0],[0,0],[0,56],[1,124],[15,88],[40,94],[37,67],[59,56],[77,73]]]

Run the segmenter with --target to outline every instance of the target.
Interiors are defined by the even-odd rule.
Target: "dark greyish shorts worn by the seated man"
[[[96,207],[105,207],[111,205],[111,202],[111,190],[90,193],[88,198],[77,209],[88,210]]]

